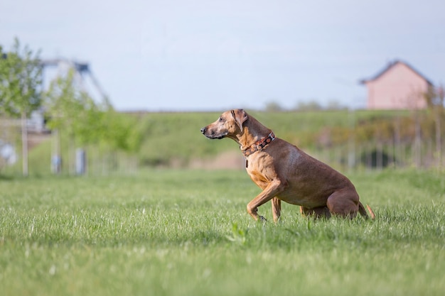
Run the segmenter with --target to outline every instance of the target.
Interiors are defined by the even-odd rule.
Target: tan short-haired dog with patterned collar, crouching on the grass
[[[242,109],[225,111],[213,124],[201,128],[207,138],[231,138],[240,144],[250,178],[263,191],[247,204],[255,219],[258,207],[272,200],[274,221],[281,201],[300,206],[300,212],[316,217],[331,214],[368,217],[350,180],[330,166],[304,153],[259,123]],[[367,206],[368,207],[368,206]],[[375,214],[368,207],[372,219]]]

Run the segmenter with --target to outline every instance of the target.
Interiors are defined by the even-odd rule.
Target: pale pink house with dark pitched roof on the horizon
[[[368,109],[424,109],[431,81],[406,62],[395,60],[368,80]]]

